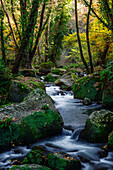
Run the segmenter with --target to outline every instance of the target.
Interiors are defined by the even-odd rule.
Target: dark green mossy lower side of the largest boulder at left
[[[24,117],[19,124],[13,120],[15,121],[7,118],[0,121],[0,149],[12,144],[31,144],[62,132],[63,121],[60,114],[50,109],[34,112]]]

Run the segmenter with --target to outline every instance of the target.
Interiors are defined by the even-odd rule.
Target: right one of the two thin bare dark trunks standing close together
[[[88,47],[88,54],[89,54],[89,63],[91,67],[91,73],[93,73],[92,55],[91,55],[90,42],[89,42],[89,16],[90,16],[90,11],[91,11],[91,5],[92,5],[92,0],[90,0],[88,16],[87,16],[86,38],[87,38],[87,47]]]

